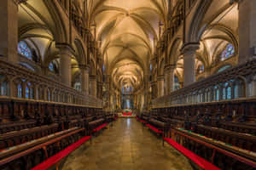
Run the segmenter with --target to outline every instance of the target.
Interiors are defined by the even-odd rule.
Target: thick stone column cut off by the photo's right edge
[[[239,1],[239,63],[256,54],[256,1]]]

